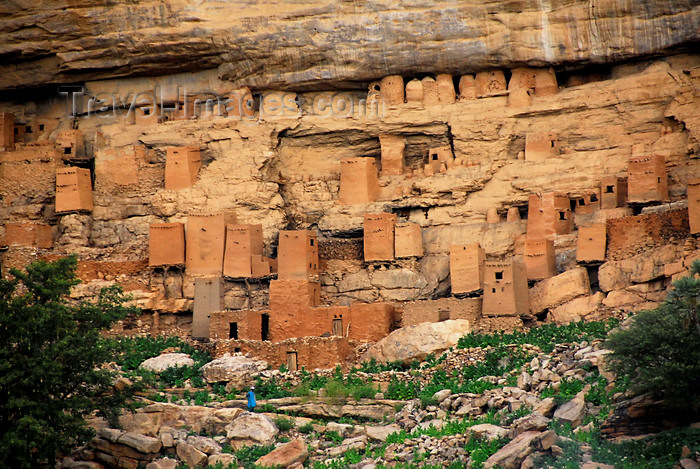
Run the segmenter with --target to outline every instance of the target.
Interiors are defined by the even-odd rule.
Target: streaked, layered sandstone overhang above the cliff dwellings
[[[692,47],[687,0],[3,2],[0,89],[215,70],[330,89],[391,74],[615,63]]]

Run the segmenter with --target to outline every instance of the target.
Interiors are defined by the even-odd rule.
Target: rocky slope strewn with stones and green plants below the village
[[[181,387],[150,383],[121,429],[95,420],[95,439],[62,467],[698,467],[700,424],[637,434],[650,433],[634,418],[653,403],[614,382],[606,329],[594,329],[472,334],[422,362],[348,372],[292,373],[227,357],[228,368],[210,362],[203,379]],[[547,344],[567,335],[577,340]],[[116,385],[152,379],[144,365],[166,379],[171,365],[196,369],[192,356],[166,353],[131,371],[113,365],[123,374]],[[253,378],[258,407],[248,412],[239,389]]]

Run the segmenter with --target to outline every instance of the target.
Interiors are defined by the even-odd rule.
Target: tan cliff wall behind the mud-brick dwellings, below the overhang
[[[633,146],[665,157],[671,198],[684,198],[688,179],[700,175],[699,70],[698,56],[673,56],[613,67],[605,79],[598,74],[562,78],[569,86],[525,108],[497,96],[426,108],[388,106],[381,116],[323,114],[313,103],[327,94],[314,92],[299,94],[302,110],[290,116],[200,117],[152,125],[130,124],[111,111],[70,119],[65,103],[56,99],[3,103],[0,107],[13,111],[18,122],[43,122],[45,128],[33,143],[2,154],[0,215],[4,223],[49,223],[55,240],[52,251],[11,249],[4,267],[22,265],[27,256],[73,252],[85,261],[107,261],[86,274],[99,281],[83,293],[116,278],[147,309],[187,311],[194,278],[186,271],[139,273],[148,256],[150,223],[234,210],[240,223],[263,225],[265,255],[274,257],[280,229],[317,229],[322,242],[361,238],[364,213],[386,211],[420,224],[423,258],[387,271],[366,270],[361,256],[322,259],[325,301],[434,298],[449,292],[450,244],[478,241],[494,259],[522,253],[526,223],[504,221],[510,208],[525,214],[532,193],[560,191],[576,198],[597,190],[604,176],[625,173]],[[201,77],[190,77],[190,85]],[[133,93],[141,91],[134,86],[171,79],[108,80],[86,88]],[[95,208],[91,215],[56,216],[54,174],[63,163],[53,141],[71,126],[83,132],[86,152],[94,156]],[[525,138],[534,131],[556,131],[560,153],[526,161]],[[442,145],[453,148],[463,164],[432,176],[383,176],[381,201],[340,205],[340,160],[378,158],[380,134],[405,138],[407,164],[414,169],[429,148]],[[166,190],[166,148],[185,145],[201,150],[198,180],[186,189]],[[493,209],[500,223],[487,223]],[[591,221],[604,222],[605,216],[576,215],[577,225]],[[0,235],[4,231],[3,226]],[[573,267],[575,235],[557,237],[556,246],[559,269]],[[265,284],[227,282],[227,307],[266,303]]]

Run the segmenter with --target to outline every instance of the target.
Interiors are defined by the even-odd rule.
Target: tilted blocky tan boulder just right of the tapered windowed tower
[[[588,272],[583,267],[577,267],[535,284],[530,289],[530,310],[538,314],[590,293]]]

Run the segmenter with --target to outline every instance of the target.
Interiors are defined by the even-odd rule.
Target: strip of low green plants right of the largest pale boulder
[[[545,324],[533,327],[526,332],[513,331],[510,333],[479,334],[470,332],[461,337],[457,348],[495,347],[502,344],[530,344],[539,347],[545,353],[554,349],[555,344],[567,342],[591,341],[604,338],[618,320],[611,318],[604,322],[572,322],[566,325]]]

